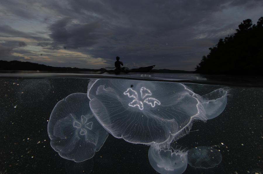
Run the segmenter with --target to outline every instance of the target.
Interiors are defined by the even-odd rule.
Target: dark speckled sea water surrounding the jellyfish
[[[21,84],[48,82],[34,92],[33,101],[20,94]],[[175,145],[182,149],[213,146],[222,162],[209,169],[187,166],[190,173],[255,173],[263,171],[263,88],[257,78],[204,77],[195,74],[0,74],[0,173],[157,173],[148,161],[149,146],[131,144],[109,134],[104,145],[87,161],[61,158],[50,145],[47,124],[56,103],[72,93],[86,93],[90,78],[127,78],[182,82],[204,95],[229,87],[221,115],[194,122],[191,131]],[[33,80],[32,80],[33,79]],[[24,82],[25,83],[25,82]],[[43,93],[43,94],[42,94]],[[35,98],[36,95],[37,99]],[[27,96],[28,97],[28,96]],[[84,171],[84,172],[83,172]]]

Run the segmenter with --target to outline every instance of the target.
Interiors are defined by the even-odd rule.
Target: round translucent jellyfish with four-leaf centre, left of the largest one
[[[70,94],[56,104],[50,115],[48,134],[51,147],[60,157],[75,162],[92,158],[108,137],[93,116],[84,93]]]

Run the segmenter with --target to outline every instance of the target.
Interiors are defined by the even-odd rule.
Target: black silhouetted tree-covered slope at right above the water
[[[236,33],[219,39],[196,66],[196,73],[263,75],[263,17],[257,25],[246,19]]]

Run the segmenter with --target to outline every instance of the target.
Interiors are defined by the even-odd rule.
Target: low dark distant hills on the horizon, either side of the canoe
[[[49,71],[49,72],[81,72],[81,73],[104,73],[105,69],[86,69],[86,68],[70,68],[70,67],[53,67],[43,64],[22,62],[22,61],[4,61],[0,60],[0,71]],[[154,73],[193,73],[193,71],[169,70],[169,69],[153,69],[150,72]]]

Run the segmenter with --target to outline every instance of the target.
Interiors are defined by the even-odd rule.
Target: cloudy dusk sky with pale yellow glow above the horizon
[[[1,0],[0,60],[194,71],[262,0]]]

